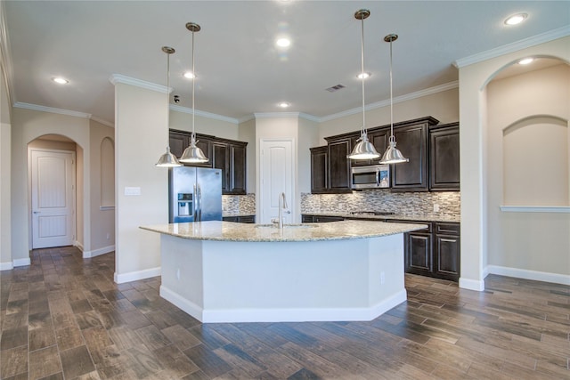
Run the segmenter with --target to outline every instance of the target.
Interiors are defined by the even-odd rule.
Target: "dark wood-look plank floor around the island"
[[[35,250],[2,271],[3,379],[570,379],[570,287],[489,276],[485,292],[406,275],[371,322],[207,324],[113,283],[114,255]]]

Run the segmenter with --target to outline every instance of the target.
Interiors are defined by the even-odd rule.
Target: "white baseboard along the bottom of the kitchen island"
[[[405,289],[372,307],[362,308],[290,308],[204,310],[167,287],[160,286],[160,296],[202,323],[309,322],[337,320],[372,320],[407,299]]]

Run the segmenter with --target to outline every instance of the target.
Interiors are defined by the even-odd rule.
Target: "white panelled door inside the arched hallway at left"
[[[32,248],[73,245],[75,153],[31,151]]]

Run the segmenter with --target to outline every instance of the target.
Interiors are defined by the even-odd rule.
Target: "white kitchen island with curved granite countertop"
[[[190,222],[161,234],[160,295],[204,323],[371,320],[406,300],[403,233],[422,224]]]

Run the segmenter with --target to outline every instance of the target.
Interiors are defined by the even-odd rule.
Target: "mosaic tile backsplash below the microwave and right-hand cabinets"
[[[352,211],[387,211],[418,216],[460,216],[459,191],[391,192],[362,190],[350,194],[301,193],[301,213],[350,213]],[[434,211],[438,208],[438,211]]]

